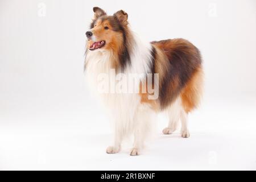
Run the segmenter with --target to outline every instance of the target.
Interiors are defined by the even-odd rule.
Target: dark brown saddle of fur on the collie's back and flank
[[[185,39],[168,39],[151,43],[153,48],[154,46],[159,48],[158,52],[162,53],[159,55],[156,52],[158,55],[154,55],[157,58],[153,61],[152,72],[159,73],[160,76],[159,104],[160,109],[163,110],[179,96],[181,90],[183,90],[184,96],[182,100],[185,98],[188,100],[188,97],[185,97],[188,96],[186,91],[197,91],[185,89],[185,87],[192,78],[196,77],[193,76],[194,74],[201,74],[201,56],[199,49]],[[164,62],[161,63],[159,59],[164,60]],[[158,67],[158,71],[155,70],[155,67]],[[188,110],[192,110],[195,106],[196,104],[190,105],[191,108],[189,107]]]

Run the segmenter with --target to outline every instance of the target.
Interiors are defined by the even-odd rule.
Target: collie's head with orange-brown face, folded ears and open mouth
[[[86,32],[87,48],[90,51],[122,49],[127,37],[127,13],[120,10],[108,16],[99,7],[93,7],[93,12],[90,30]]]

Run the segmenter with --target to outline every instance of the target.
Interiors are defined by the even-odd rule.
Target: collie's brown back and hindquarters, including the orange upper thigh
[[[151,42],[152,73],[159,73],[158,109],[164,110],[181,97],[186,112],[200,101],[203,71],[200,51],[185,39]],[[152,103],[143,97],[144,102]]]

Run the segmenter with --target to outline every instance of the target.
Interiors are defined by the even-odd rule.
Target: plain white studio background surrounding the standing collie
[[[109,121],[83,75],[94,6],[125,10],[148,41],[185,38],[201,50],[205,94],[191,138],[162,135],[159,115],[143,155],[128,145],[105,154]],[[255,32],[254,0],[1,0],[0,169],[256,169]]]

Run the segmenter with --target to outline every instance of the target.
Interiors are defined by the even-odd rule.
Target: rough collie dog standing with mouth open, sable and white
[[[139,155],[159,111],[169,117],[163,134],[172,134],[181,121],[181,137],[189,137],[188,113],[199,105],[201,96],[199,49],[184,39],[144,43],[130,30],[125,11],[110,16],[99,7],[93,11],[84,69],[113,121],[114,140],[106,152],[119,152],[130,134],[134,137],[130,155]],[[127,75],[137,78],[127,81]],[[127,91],[134,86],[138,92]],[[108,89],[102,92],[104,87]],[[126,91],[117,92],[117,88]]]

